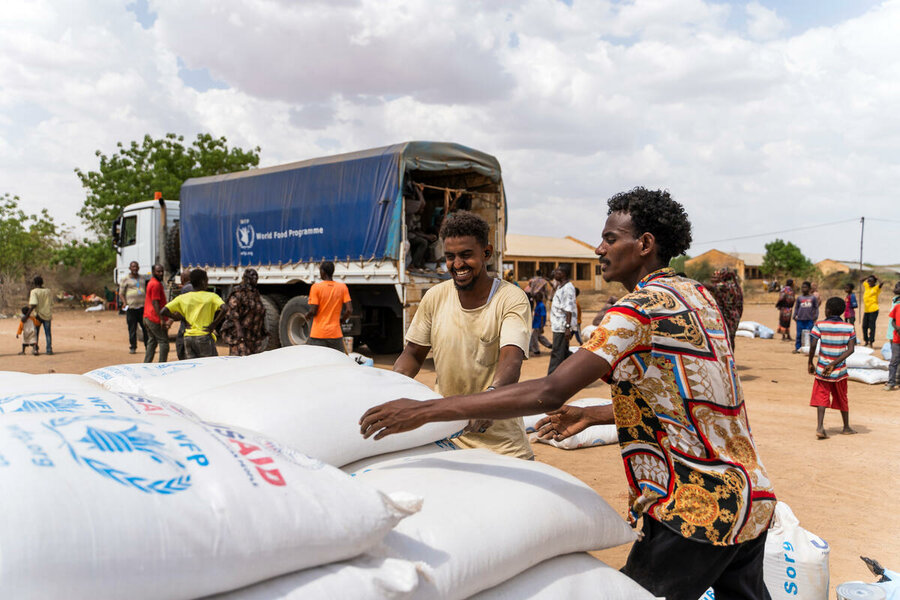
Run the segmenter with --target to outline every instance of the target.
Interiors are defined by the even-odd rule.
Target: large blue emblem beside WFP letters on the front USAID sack
[[[119,485],[161,495],[191,487],[187,465],[172,456],[140,419],[57,417],[44,427],[59,436],[76,463]]]

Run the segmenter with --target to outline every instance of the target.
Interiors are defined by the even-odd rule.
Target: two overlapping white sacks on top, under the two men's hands
[[[98,376],[98,371],[103,369],[88,375]],[[343,353],[315,346],[203,362],[166,377],[138,371],[133,383],[124,379],[126,374],[104,385],[139,386],[201,419],[258,431],[337,467],[447,438],[465,426],[464,421],[432,423],[379,441],[364,439],[359,418],[372,406],[439,395],[399,373],[360,367]]]

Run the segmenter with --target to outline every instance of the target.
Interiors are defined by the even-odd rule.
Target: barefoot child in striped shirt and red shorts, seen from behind
[[[825,320],[816,323],[810,332],[809,340],[809,373],[815,375],[810,406],[815,406],[818,413],[816,437],[824,440],[825,409],[829,406],[841,411],[844,429],[841,433],[856,433],[850,429],[850,408],[847,402],[847,357],[853,354],[856,347],[856,330],[850,323],[841,320],[846,303],[834,296],[825,302]],[[816,346],[821,342],[822,348],[816,361]],[[815,364],[813,361],[816,361]],[[830,402],[829,402],[830,399]]]

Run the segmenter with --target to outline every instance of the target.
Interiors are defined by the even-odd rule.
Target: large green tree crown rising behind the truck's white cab
[[[176,199],[186,179],[243,171],[259,164],[258,146],[229,148],[224,137],[207,133],[198,134],[190,146],[183,142],[184,137],[174,133],[158,140],[145,135],[143,141],[127,146],[119,142],[116,153],[109,156],[97,150],[99,170],[75,169],[87,190],[78,216],[101,240],[108,239],[113,220],[129,204],[151,200],[154,192]]]

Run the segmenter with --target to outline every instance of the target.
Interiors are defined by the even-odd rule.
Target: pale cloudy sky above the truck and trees
[[[30,0],[0,19],[0,194],[80,227],[76,167],[166,132],[262,165],[491,153],[510,231],[599,241],[667,188],[690,254],[900,263],[900,0]],[[136,199],[137,200],[137,199]],[[843,223],[813,227],[822,224]]]

